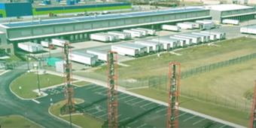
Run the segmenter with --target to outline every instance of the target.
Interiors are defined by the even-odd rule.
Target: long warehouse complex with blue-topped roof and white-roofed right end
[[[230,9],[224,10],[224,8]],[[91,33],[130,29],[138,26],[156,29],[154,27],[160,28],[160,25],[164,23],[176,24],[183,21],[203,19],[222,20],[224,18],[237,18],[250,20],[254,19],[254,14],[255,8],[253,7],[242,5],[215,5],[3,23],[0,24],[0,32],[5,34],[5,37],[1,38],[3,46],[17,47],[17,43],[20,42],[32,41],[39,43],[40,41],[50,41],[51,38],[62,38],[71,42],[84,41],[89,38]],[[7,51],[6,48],[5,51]],[[11,49],[11,53],[13,52],[14,48]]]

